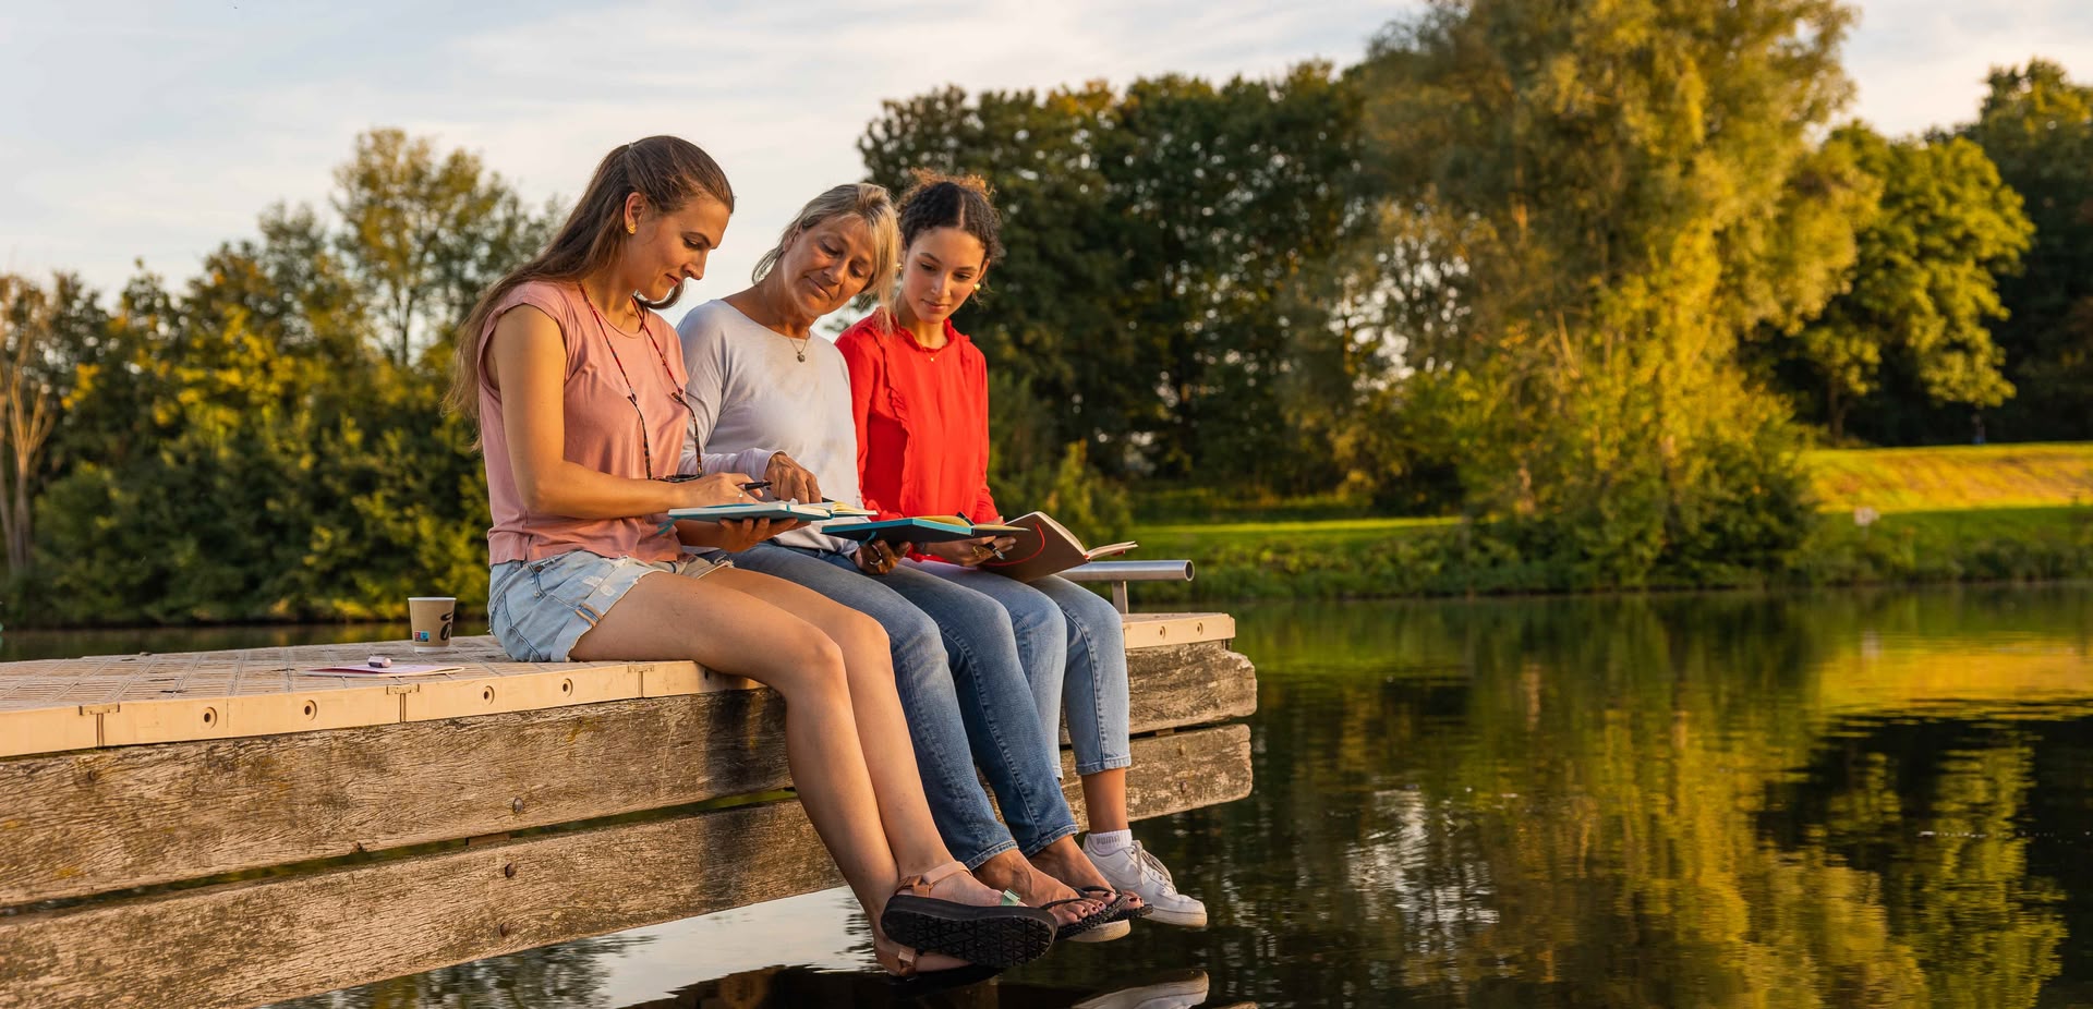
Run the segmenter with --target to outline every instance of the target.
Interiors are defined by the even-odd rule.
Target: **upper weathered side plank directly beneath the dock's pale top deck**
[[[697,676],[636,676],[663,666]],[[712,680],[659,699],[0,760],[0,906],[783,787],[783,701]],[[1256,705],[1250,659],[1216,643],[1136,651],[1130,682],[1136,733]]]

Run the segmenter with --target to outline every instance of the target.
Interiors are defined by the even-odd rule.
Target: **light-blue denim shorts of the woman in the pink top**
[[[588,551],[507,561],[494,565],[488,584],[488,624],[494,641],[517,662],[567,662],[573,643],[640,578],[655,571],[703,578],[720,567],[733,567],[733,561],[720,555],[636,561]]]

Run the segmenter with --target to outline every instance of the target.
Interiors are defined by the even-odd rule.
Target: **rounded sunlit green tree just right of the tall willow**
[[[1829,144],[1848,149],[1882,190],[1859,232],[1850,289],[1794,341],[1819,377],[1831,440],[1844,438],[1846,412],[1877,387],[1886,358],[1932,404],[1999,406],[2013,385],[1986,320],[2005,316],[1997,276],[2018,268],[2032,232],[2020,195],[1963,138],[1888,140],[1854,124]]]

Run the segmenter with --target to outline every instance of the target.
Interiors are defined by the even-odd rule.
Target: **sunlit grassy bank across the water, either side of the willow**
[[[2093,578],[2093,446],[1810,452],[1823,513],[1775,571],[1725,571],[1651,588],[1836,586]],[[1314,517],[1314,509],[1331,517]],[[1869,525],[1854,509],[1875,513]],[[1139,586],[1147,603],[1547,592],[1574,571],[1482,553],[1455,519],[1356,517],[1291,504],[1258,521],[1183,515],[1136,525],[1141,557],[1189,557],[1197,580]]]

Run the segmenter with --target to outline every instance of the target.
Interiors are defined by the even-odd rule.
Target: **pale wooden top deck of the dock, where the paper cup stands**
[[[1226,613],[1132,613],[1124,626],[1128,649],[1235,636],[1235,620]],[[414,678],[299,672],[358,666],[373,653],[460,670]],[[473,636],[437,655],[417,655],[408,643],[391,641],[6,662],[0,664],[0,756],[530,712],[747,685],[691,662],[507,659],[494,638]]]

